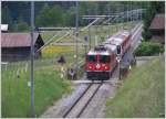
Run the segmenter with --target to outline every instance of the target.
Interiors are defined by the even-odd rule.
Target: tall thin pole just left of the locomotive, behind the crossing
[[[76,1],[76,7],[75,7],[75,73],[76,73],[76,79],[77,79],[77,69],[79,69],[79,64],[77,64],[77,39],[79,39],[79,1]]]

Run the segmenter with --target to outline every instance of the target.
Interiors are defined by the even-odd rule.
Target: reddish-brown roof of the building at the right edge
[[[156,14],[151,23],[149,29],[164,30],[165,29],[165,14]]]

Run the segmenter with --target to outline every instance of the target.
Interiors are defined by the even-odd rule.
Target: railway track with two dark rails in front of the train
[[[63,118],[79,118],[86,109],[103,83],[90,84],[75,102],[63,113]]]

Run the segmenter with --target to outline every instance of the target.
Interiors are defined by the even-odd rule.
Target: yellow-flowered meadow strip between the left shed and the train
[[[38,60],[35,64],[44,65],[49,64],[50,62],[54,65],[61,55],[64,56],[66,61],[66,66],[71,66],[74,63],[74,54],[75,54],[74,46],[48,46],[46,48],[42,50],[42,58]],[[84,60],[85,50],[80,46],[79,47],[79,61]]]

